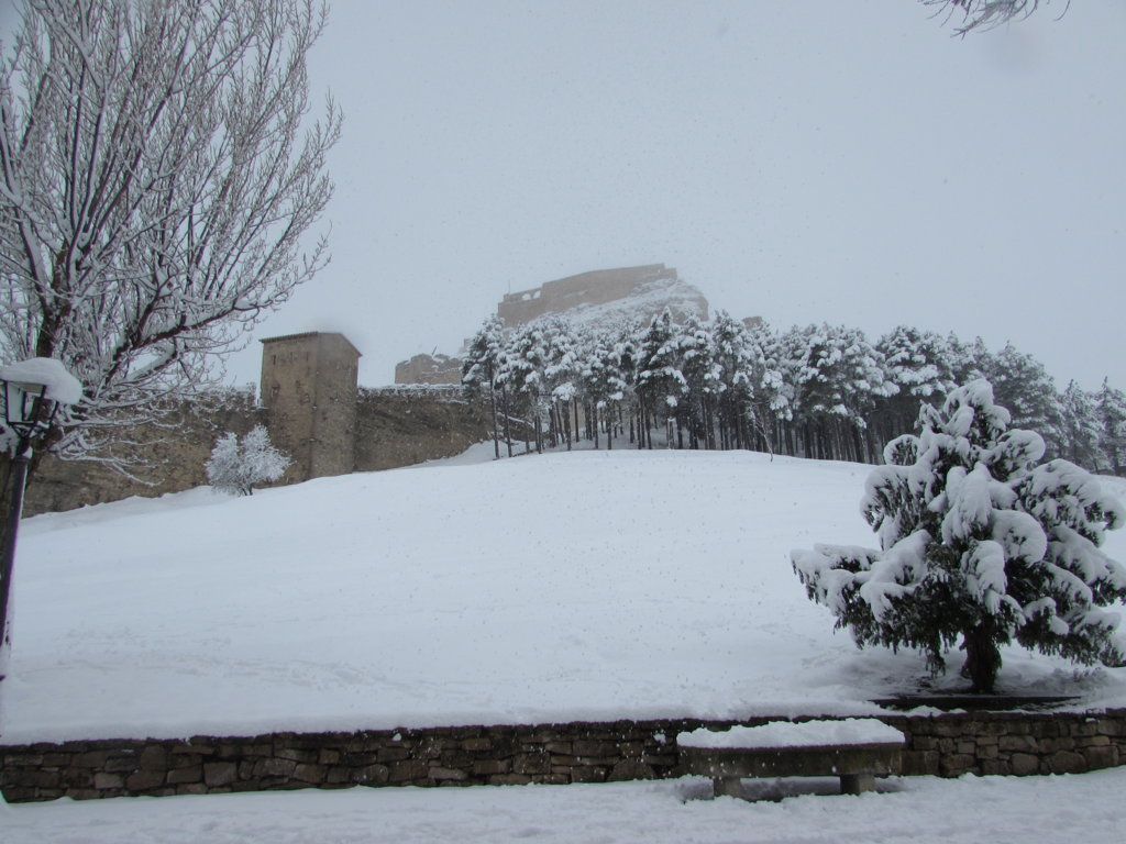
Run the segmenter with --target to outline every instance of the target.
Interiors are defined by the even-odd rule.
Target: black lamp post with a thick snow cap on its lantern
[[[11,647],[8,610],[16,564],[16,532],[24,511],[32,443],[51,429],[61,404],[77,404],[82,398],[82,385],[57,360],[32,358],[0,368],[0,393],[3,396],[5,428],[16,434],[11,503],[0,556],[0,680],[3,680],[8,673],[8,652]]]

